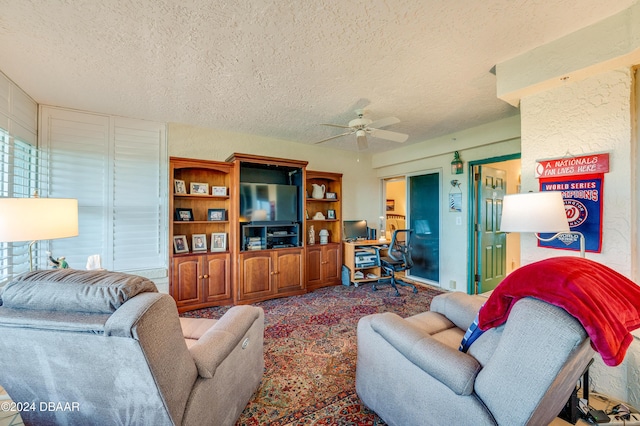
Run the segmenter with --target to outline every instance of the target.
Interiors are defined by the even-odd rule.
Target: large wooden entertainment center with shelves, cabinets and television
[[[169,293],[180,312],[340,283],[342,174],[306,167],[237,153],[224,162],[170,158]]]

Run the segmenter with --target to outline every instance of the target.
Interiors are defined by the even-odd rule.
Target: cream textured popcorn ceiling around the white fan
[[[496,63],[636,1],[0,0],[0,70],[43,104],[301,143],[365,108],[410,144],[516,114]]]

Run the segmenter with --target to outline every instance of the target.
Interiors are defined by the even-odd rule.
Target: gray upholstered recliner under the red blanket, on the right
[[[594,351],[580,323],[533,298],[458,350],[481,296],[447,293],[431,311],[358,323],[356,391],[390,425],[548,425]]]

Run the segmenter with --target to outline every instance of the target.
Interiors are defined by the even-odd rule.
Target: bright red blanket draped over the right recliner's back
[[[580,257],[554,257],[523,266],[493,291],[479,313],[482,330],[504,323],[513,305],[535,297],[573,315],[605,364],[618,365],[640,328],[640,286],[618,272]]]

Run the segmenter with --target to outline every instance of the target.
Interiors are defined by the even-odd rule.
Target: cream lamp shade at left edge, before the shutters
[[[78,235],[78,200],[0,198],[0,242],[51,240]]]

